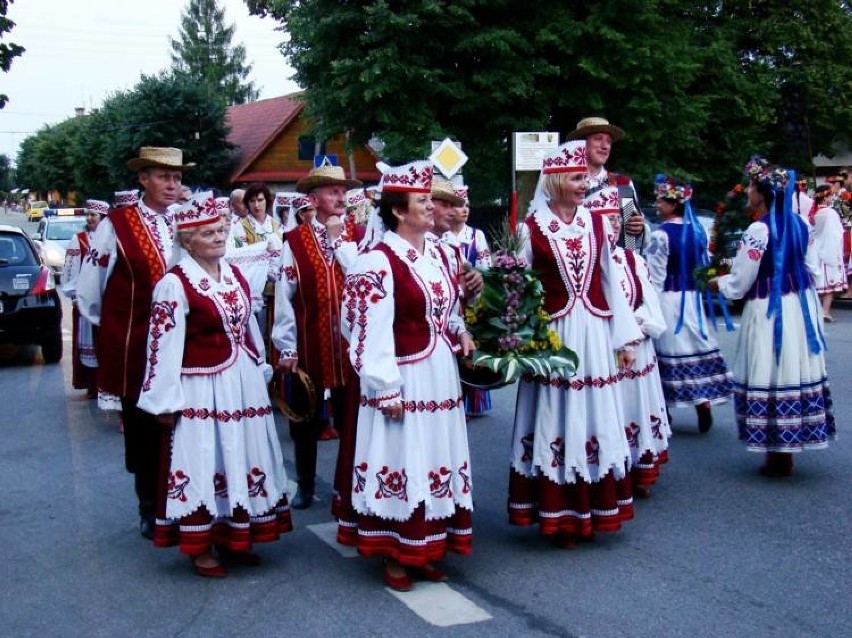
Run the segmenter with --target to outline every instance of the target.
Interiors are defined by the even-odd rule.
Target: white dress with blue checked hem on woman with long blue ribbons
[[[811,239],[804,264],[784,260],[791,272],[785,273],[781,290],[776,356],[775,317],[767,317],[774,268],[765,219],[748,227],[731,273],[719,278],[725,297],[746,299],[732,362],[739,438],[755,452],[823,448],[834,438],[835,424],[823,354],[822,307],[810,283],[819,268],[817,249]],[[799,232],[807,233],[801,220],[789,219],[795,220]],[[806,272],[797,278],[796,269]],[[796,285],[797,279],[805,285]],[[811,343],[814,339],[816,344]]]

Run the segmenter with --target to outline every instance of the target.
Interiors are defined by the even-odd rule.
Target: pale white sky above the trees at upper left
[[[97,108],[116,91],[132,89],[141,74],[171,66],[169,37],[177,37],[188,0],[14,0],[15,22],[4,42],[26,51],[0,72],[0,154],[14,163],[18,146],[45,124]],[[232,45],[246,47],[249,78],[260,99],[298,90],[293,69],[278,51],[283,34],[272,18],[250,16],[243,0],[219,0]]]

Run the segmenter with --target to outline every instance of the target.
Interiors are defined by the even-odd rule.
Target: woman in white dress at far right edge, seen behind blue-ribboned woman
[[[822,300],[823,318],[829,323],[834,295],[846,290],[846,266],[843,263],[843,222],[831,206],[831,186],[819,186],[811,211],[813,240],[819,265],[815,274],[816,291]]]

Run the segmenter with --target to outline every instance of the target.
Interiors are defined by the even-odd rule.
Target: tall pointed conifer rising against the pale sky
[[[207,87],[226,104],[257,99],[254,83],[247,80],[251,64],[246,48],[231,46],[234,25],[225,26],[225,10],[217,0],[189,0],[181,16],[178,39],[171,38],[172,67]]]

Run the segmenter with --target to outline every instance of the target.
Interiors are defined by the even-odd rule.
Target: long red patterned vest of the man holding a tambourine
[[[345,385],[343,366],[346,353],[340,334],[340,303],[343,296],[343,269],[336,259],[325,260],[310,224],[287,233],[296,265],[296,350],[299,367],[322,388]]]

